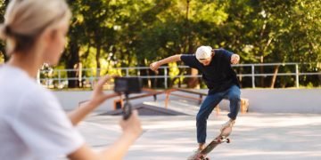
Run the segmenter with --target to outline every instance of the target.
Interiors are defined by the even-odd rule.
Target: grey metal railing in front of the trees
[[[310,63],[261,63],[261,64],[238,64],[233,65],[233,68],[240,69],[243,68],[243,71],[236,72],[238,77],[251,77],[251,87],[255,88],[256,84],[256,77],[259,76],[295,76],[295,87],[299,88],[300,86],[300,76],[319,76],[321,78],[321,71],[320,66],[318,66],[318,70],[315,70],[314,72],[305,72],[300,71],[300,68],[305,65],[311,65]],[[292,71],[286,71],[286,72],[277,72],[277,73],[258,73],[259,69],[262,67],[293,67]],[[171,68],[189,68],[187,66],[177,66],[177,67],[171,67]],[[244,69],[247,68],[247,69]],[[250,69],[249,69],[250,68]],[[123,73],[121,76],[139,76],[143,79],[152,79],[152,78],[161,78],[164,79],[164,87],[168,88],[169,82],[168,79],[170,78],[176,78],[176,77],[201,77],[202,75],[177,75],[177,76],[169,76],[169,67],[162,66],[159,68],[159,72],[161,75],[154,75],[154,76],[141,76],[142,70],[149,70],[149,67],[129,67],[129,68],[112,68],[114,70],[118,70],[119,73]],[[92,85],[94,84],[95,80],[99,78],[99,76],[95,76],[95,72],[100,72],[101,68],[81,68],[81,69],[51,69],[51,70],[40,70],[37,76],[38,83],[41,84],[51,84],[51,82],[56,81],[58,85],[65,85],[69,80],[78,80],[86,81],[87,84]],[[244,71],[245,70],[245,71]],[[272,70],[272,69],[270,69]],[[67,72],[86,72],[86,76],[82,76],[84,74],[79,74],[80,76],[75,77],[68,77]],[[245,73],[244,73],[245,72]],[[63,76],[62,76],[63,75]],[[44,83],[45,82],[45,83]],[[48,83],[49,82],[49,83]]]

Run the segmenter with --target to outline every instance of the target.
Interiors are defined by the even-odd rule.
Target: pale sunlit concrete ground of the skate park
[[[218,135],[226,112],[214,112],[208,121],[208,139]],[[78,130],[89,145],[99,150],[121,133],[120,116],[89,116]],[[195,116],[141,116],[142,136],[124,159],[186,159],[196,148]],[[211,159],[321,159],[320,114],[240,114],[231,143],[210,152]]]

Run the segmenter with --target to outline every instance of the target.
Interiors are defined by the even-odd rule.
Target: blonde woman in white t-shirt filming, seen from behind
[[[116,94],[104,94],[103,77],[91,100],[66,115],[52,92],[36,83],[37,70],[59,61],[70,9],[64,0],[12,0],[0,36],[10,60],[0,68],[1,159],[121,159],[142,132],[137,112],[121,121],[123,133],[110,148],[93,151],[75,129],[90,111]]]

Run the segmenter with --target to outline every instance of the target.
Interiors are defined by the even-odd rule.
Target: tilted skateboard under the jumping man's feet
[[[199,154],[195,155],[193,160],[209,160],[210,158],[206,156],[210,153],[210,151],[212,151],[221,143],[230,142],[230,140],[227,137],[231,134],[231,132],[232,127],[226,127],[222,132],[219,133],[219,135],[214,140],[211,140],[210,144],[203,148]]]

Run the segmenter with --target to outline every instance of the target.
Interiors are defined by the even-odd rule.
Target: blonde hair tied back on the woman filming
[[[0,24],[7,54],[29,50],[46,28],[54,28],[70,16],[64,0],[12,0]]]

